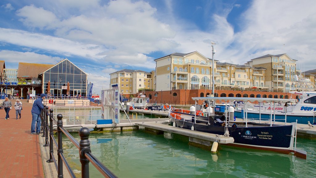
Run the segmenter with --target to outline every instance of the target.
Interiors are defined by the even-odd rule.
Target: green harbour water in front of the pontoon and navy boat
[[[78,141],[79,136],[72,134]],[[64,154],[80,170],[78,149],[64,137]],[[316,177],[315,140],[298,138],[307,159],[221,145],[217,154],[190,146],[187,137],[144,130],[90,134],[91,151],[120,178]],[[103,177],[89,164],[90,177]]]

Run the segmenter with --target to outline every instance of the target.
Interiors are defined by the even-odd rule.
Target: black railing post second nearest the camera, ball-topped
[[[61,131],[60,127],[63,127],[63,115],[58,114],[57,115],[57,133],[58,133],[58,150],[57,150],[57,156],[58,156],[58,178],[63,178],[63,160],[61,159],[60,154],[64,153],[63,151],[63,132]]]

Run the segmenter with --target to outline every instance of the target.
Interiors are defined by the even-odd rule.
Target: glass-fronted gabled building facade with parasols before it
[[[44,71],[42,83],[42,91],[51,96],[87,95],[87,74],[68,59]]]

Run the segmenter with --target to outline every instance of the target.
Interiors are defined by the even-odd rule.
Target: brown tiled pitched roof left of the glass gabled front
[[[17,78],[37,78],[40,73],[52,66],[54,65],[19,62]]]

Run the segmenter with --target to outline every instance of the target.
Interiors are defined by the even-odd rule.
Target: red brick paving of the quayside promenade
[[[14,105],[13,100],[11,102]],[[40,149],[42,134],[30,134],[31,108],[30,105],[24,105],[21,119],[18,120],[15,119],[14,107],[9,112],[8,120],[4,120],[4,109],[0,110],[0,177],[44,177]]]

